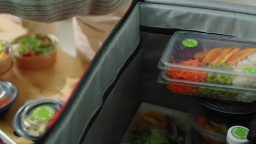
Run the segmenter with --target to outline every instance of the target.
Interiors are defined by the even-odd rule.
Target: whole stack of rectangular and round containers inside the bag
[[[195,96],[187,143],[226,143],[228,129],[248,127],[256,108],[256,43],[223,35],[178,31],[159,62],[158,82]]]

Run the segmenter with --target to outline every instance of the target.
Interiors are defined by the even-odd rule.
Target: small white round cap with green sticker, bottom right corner
[[[250,141],[247,140],[247,135],[249,129],[242,126],[234,126],[229,128],[226,141],[229,144],[249,144]]]

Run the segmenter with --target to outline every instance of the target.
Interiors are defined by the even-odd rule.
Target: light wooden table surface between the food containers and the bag
[[[66,100],[82,76],[87,64],[62,50],[57,50],[56,63],[42,70],[21,70],[14,66],[13,82],[19,89],[19,98],[7,114],[0,118],[0,129],[19,144],[33,143],[13,134],[13,117],[26,100],[55,97]]]

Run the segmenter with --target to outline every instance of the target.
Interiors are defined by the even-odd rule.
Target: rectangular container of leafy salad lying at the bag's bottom
[[[142,103],[121,143],[183,144],[187,114]]]

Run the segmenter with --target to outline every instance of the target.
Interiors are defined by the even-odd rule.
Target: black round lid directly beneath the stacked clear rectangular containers
[[[230,100],[219,100],[196,97],[200,104],[208,107],[209,109],[216,110],[224,113],[245,114],[256,111],[256,101],[252,103],[243,103]]]

